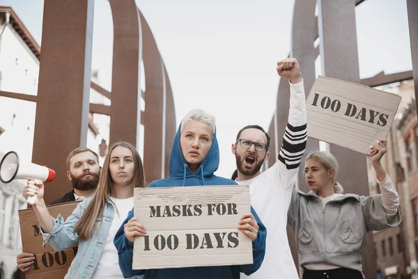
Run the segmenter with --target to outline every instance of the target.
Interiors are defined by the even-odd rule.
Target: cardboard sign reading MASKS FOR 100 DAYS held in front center
[[[250,213],[249,186],[135,188],[133,269],[252,264],[238,223]]]

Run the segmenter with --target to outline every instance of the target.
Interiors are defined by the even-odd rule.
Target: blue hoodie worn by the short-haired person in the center
[[[216,132],[213,137],[212,146],[205,160],[201,163],[196,173],[192,173],[183,156],[180,147],[180,127],[177,130],[176,138],[171,148],[169,161],[170,176],[167,179],[153,181],[148,187],[173,187],[173,186],[198,186],[198,185],[236,185],[231,179],[215,176],[213,173],[219,166],[219,146],[216,138]],[[247,275],[254,273],[260,268],[265,253],[265,237],[267,230],[256,211],[251,206],[251,213],[258,223],[257,239],[253,241],[253,259],[254,264],[245,264],[240,266],[199,266],[176,269],[147,269],[132,270],[132,255],[134,243],[128,241],[123,227],[130,218],[134,217],[134,211],[130,211],[126,220],[116,232],[114,244],[118,250],[119,266],[125,278],[144,275],[144,279],[238,279],[240,272]]]

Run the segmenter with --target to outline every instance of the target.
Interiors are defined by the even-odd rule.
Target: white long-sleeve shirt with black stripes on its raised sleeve
[[[293,184],[307,143],[306,111],[303,81],[291,84],[288,125],[279,160],[254,179],[238,181],[240,185],[249,185],[251,205],[268,229],[261,268],[251,276],[241,274],[241,278],[299,278],[288,246],[286,224]]]

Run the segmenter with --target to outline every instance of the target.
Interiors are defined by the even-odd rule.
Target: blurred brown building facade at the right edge
[[[414,139],[411,139],[410,136],[417,125],[416,110],[415,115],[413,113],[413,104],[415,104],[414,86],[412,80],[407,80],[382,90],[402,97],[396,119],[387,137],[387,153],[382,158],[382,165],[400,195],[403,220],[398,227],[374,232],[373,241],[377,267],[383,278],[418,278],[416,272],[417,249],[415,248],[415,237],[418,234],[415,225],[416,218],[413,213],[415,207],[411,195],[413,184],[408,183],[408,180],[410,180],[408,178],[417,172],[417,169],[412,168],[415,167],[412,164],[417,160],[411,159],[411,157],[414,157],[412,155],[414,151],[416,156],[417,145],[416,141],[414,142]],[[406,119],[409,120],[408,124],[406,124]],[[408,128],[403,128],[405,125]],[[376,183],[376,174],[369,161],[367,167],[369,192],[371,195],[380,193]]]

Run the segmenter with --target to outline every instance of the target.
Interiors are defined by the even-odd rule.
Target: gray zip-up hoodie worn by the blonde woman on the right
[[[323,263],[362,271],[367,232],[401,223],[399,210],[387,216],[381,195],[346,194],[323,202],[314,191],[293,189],[288,225],[295,232],[300,265]]]

